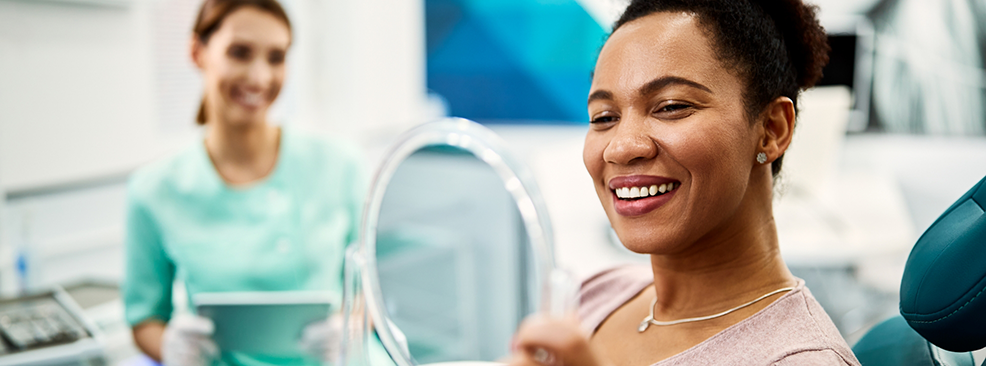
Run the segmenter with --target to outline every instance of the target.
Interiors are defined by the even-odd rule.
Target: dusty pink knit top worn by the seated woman
[[[600,272],[582,283],[579,315],[588,334],[654,282],[650,267]],[[654,366],[852,365],[859,361],[804,281],[764,309]]]

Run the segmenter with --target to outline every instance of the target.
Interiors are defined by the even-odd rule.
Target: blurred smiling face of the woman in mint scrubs
[[[192,58],[205,79],[208,118],[264,122],[284,83],[290,43],[283,21],[249,6],[227,15],[207,44],[196,43]]]

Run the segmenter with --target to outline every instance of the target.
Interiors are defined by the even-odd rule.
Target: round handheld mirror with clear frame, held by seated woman
[[[527,315],[574,310],[533,175],[498,136],[455,118],[398,141],[347,252],[344,364],[504,360]]]

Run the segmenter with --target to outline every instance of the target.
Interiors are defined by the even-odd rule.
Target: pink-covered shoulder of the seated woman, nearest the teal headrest
[[[811,291],[791,292],[749,318],[658,365],[859,365]]]

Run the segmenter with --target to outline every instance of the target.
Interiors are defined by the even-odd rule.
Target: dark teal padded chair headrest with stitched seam
[[[986,178],[918,239],[900,284],[900,313],[938,347],[986,347]]]

